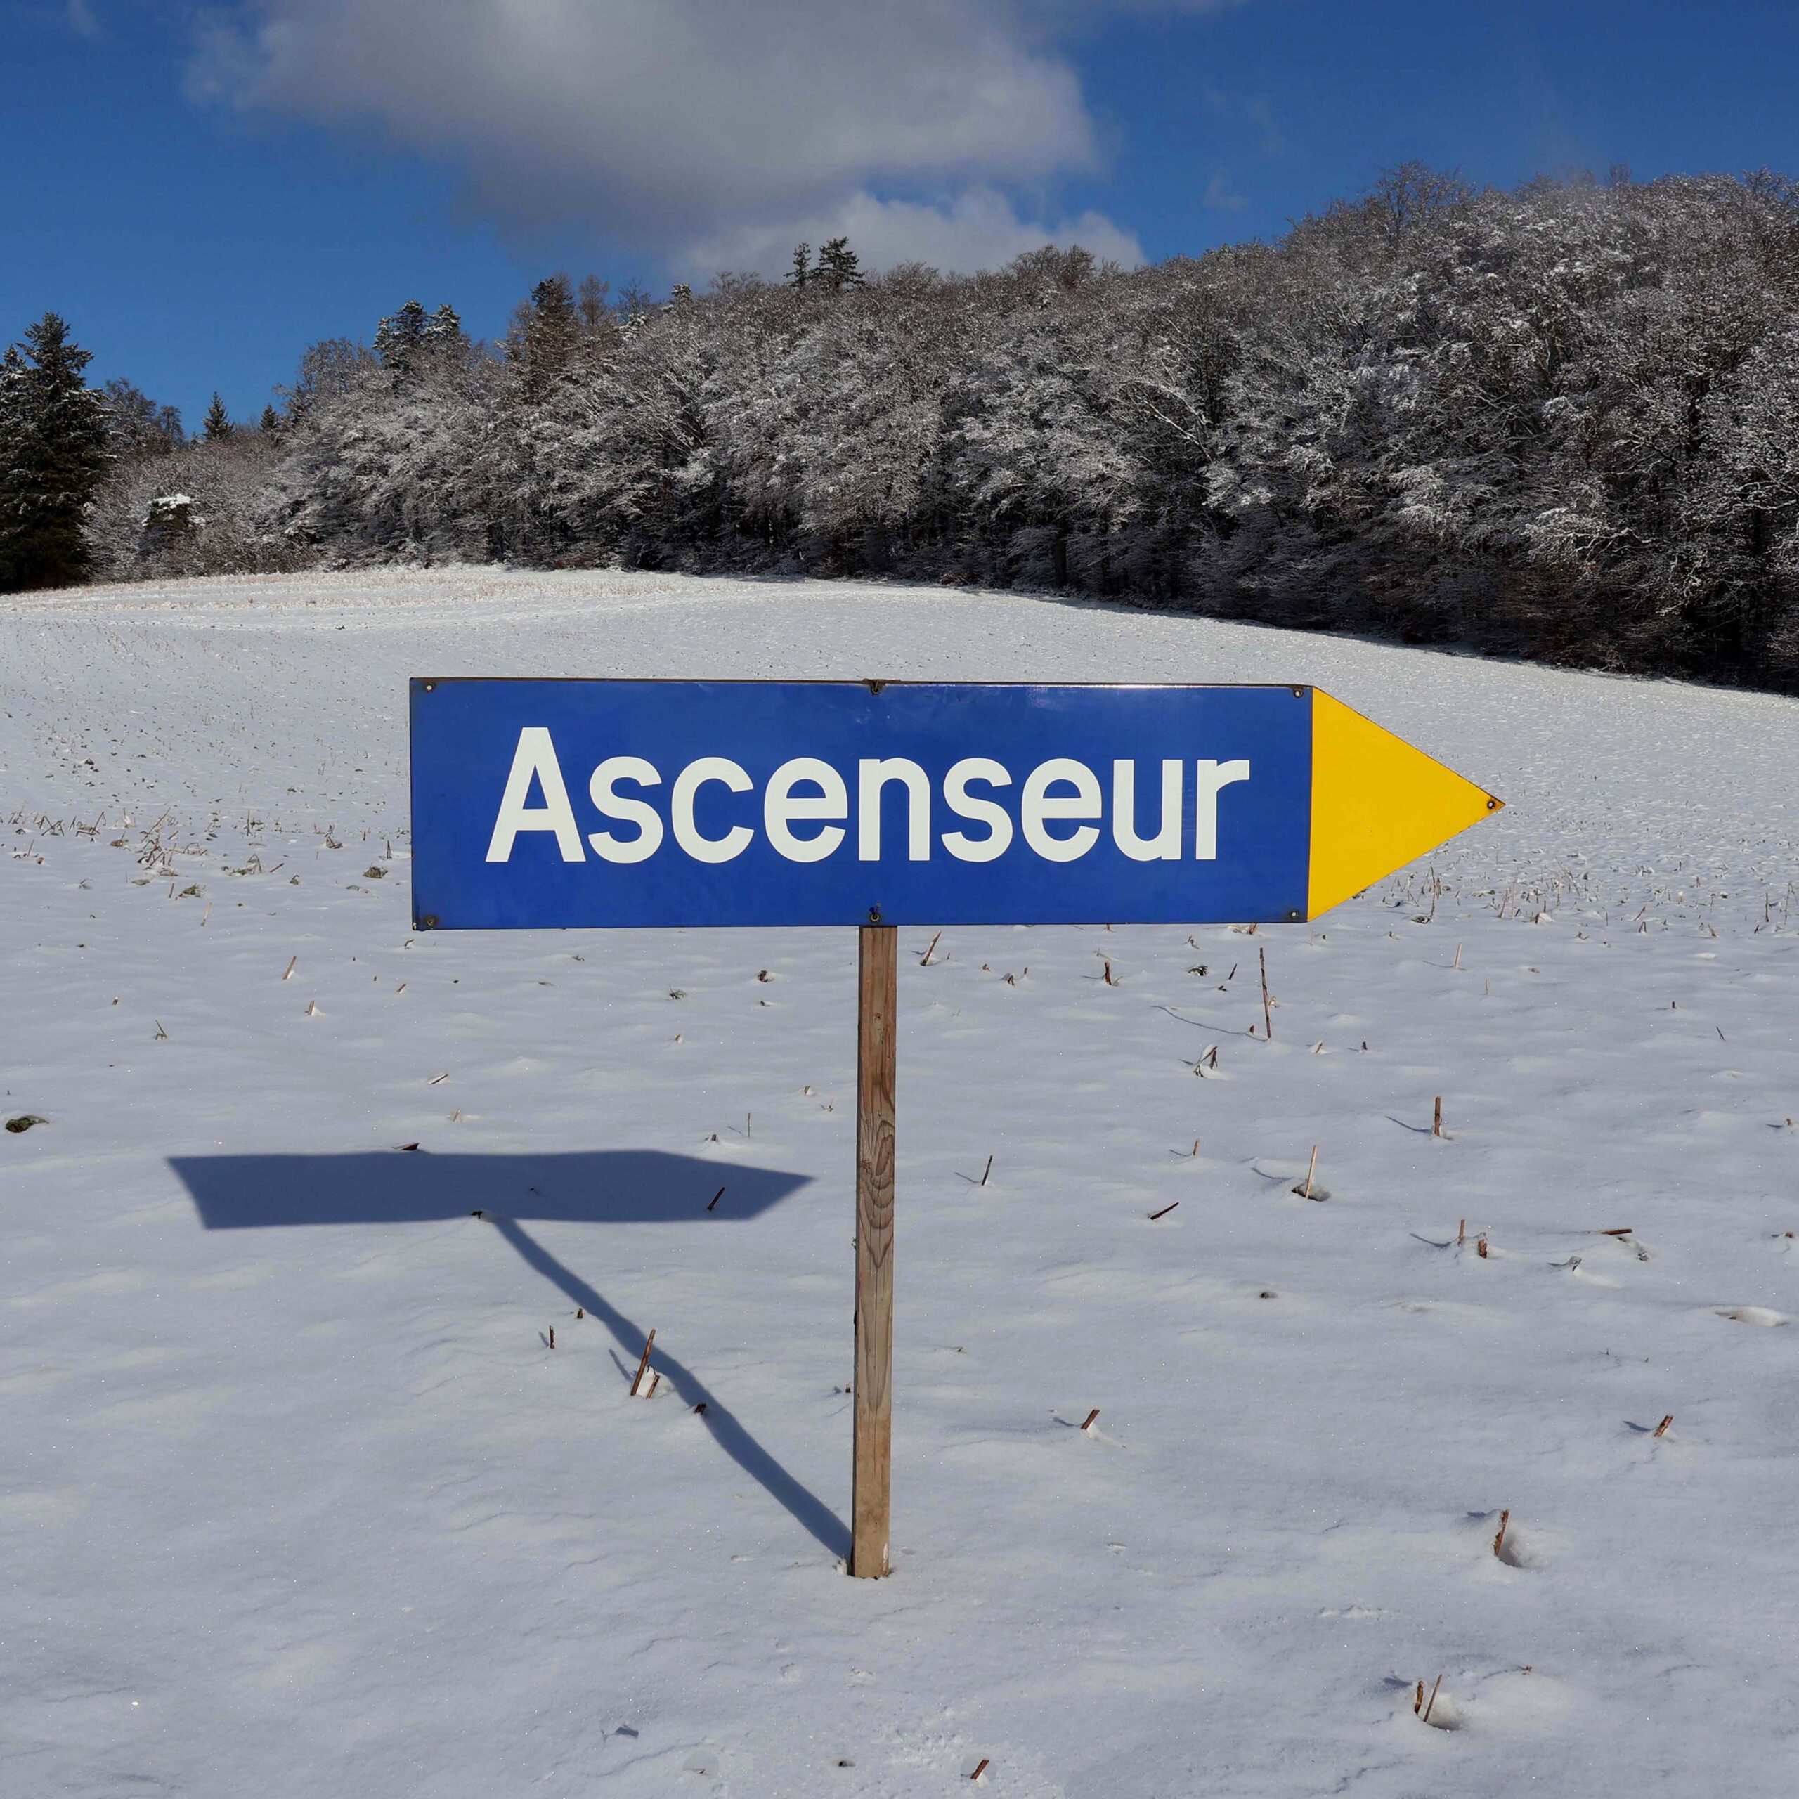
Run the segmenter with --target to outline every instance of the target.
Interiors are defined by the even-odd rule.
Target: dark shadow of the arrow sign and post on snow
[[[775,1168],[727,1168],[660,1150],[180,1155],[171,1157],[169,1166],[192,1195],[209,1231],[423,1223],[470,1218],[479,1211],[529,1268],[612,1331],[633,1367],[644,1351],[644,1329],[543,1249],[520,1220],[716,1227],[756,1218],[811,1178]],[[750,1479],[831,1554],[849,1554],[849,1529],[837,1513],[775,1461],[716,1392],[660,1344],[653,1365],[664,1387],[673,1387],[684,1405],[700,1412],[718,1446]]]

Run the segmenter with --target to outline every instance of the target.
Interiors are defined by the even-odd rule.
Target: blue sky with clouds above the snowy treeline
[[[1121,257],[1421,158],[1799,169],[1799,9],[1414,0],[0,0],[0,340],[61,311],[196,421],[417,297],[540,275]]]

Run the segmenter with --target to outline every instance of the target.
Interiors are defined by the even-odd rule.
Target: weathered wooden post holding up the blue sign
[[[894,1006],[900,934],[860,930],[856,1006],[856,1448],[849,1572],[887,1572],[894,1358]]]

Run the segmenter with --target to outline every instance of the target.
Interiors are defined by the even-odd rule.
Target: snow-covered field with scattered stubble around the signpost
[[[1509,810],[903,935],[853,1581],[855,935],[408,937],[414,673],[1317,682]],[[1790,1794],[1795,727],[921,588],[0,603],[0,1792]]]

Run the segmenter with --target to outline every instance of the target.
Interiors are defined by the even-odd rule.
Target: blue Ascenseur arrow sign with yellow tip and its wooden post
[[[412,682],[419,930],[858,926],[860,1576],[891,1511],[898,926],[1299,923],[1499,806],[1302,685]]]

